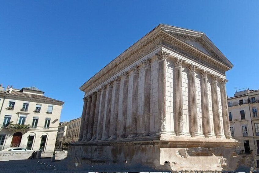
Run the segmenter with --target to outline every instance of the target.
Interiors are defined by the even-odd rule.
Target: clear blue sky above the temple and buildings
[[[259,89],[259,1],[0,1],[0,83],[82,114],[78,88],[158,24],[206,33],[232,62],[227,95]]]

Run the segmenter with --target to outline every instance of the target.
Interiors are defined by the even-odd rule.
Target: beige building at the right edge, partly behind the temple
[[[230,131],[240,151],[251,154],[259,166],[259,90],[245,89],[228,98]]]

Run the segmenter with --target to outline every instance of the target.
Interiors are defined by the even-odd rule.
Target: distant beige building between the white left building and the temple
[[[60,122],[58,127],[56,149],[67,148],[71,142],[78,141],[81,117],[69,122]]]

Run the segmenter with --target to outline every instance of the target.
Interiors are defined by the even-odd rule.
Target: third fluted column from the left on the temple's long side
[[[91,104],[91,111],[90,111],[90,118],[89,118],[88,135],[86,139],[87,141],[89,141],[93,136],[93,121],[94,121],[94,114],[95,114],[97,92],[93,92],[91,96],[92,96],[92,104]]]

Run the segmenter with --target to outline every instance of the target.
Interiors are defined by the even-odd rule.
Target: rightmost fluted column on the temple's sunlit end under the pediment
[[[220,94],[221,94],[224,135],[226,136],[226,138],[232,138],[230,134],[229,117],[228,117],[228,101],[227,101],[227,94],[226,94],[227,81],[228,80],[226,79],[220,80],[220,83],[221,83]]]

